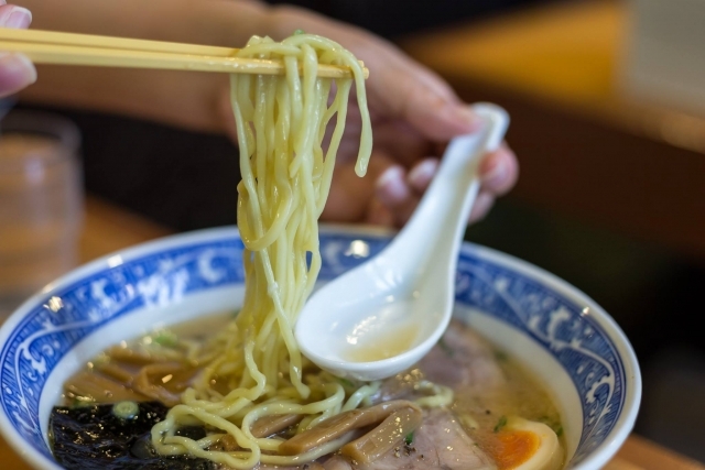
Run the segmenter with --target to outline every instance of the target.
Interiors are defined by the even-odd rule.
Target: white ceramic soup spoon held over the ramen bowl
[[[509,116],[478,103],[485,121],[451,141],[411,220],[387,249],[324,285],[299,316],[302,352],[338,376],[378,380],[421,360],[451,320],[460,241],[479,188],[477,166],[501,143]]]

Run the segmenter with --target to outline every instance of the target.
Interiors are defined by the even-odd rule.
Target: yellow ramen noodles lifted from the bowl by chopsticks
[[[235,469],[259,462],[297,464],[336,450],[344,436],[321,448],[280,456],[280,438],[252,435],[254,422],[273,415],[303,415],[297,431],[366,403],[379,384],[362,384],[346,402],[346,391],[323,372],[304,376],[307,365],[293,336],[296,315],[321,269],[317,220],[323,211],[343,136],[352,81],[362,116],[356,173],[362,176],[371,152],[362,69],[338,44],[299,34],[282,43],[253,37],[239,56],[281,58],[285,76],[232,75],[232,110],[240,145],[238,227],[245,244],[246,293],[242,310],[226,331],[188,358],[207,358],[181,404],[152,429],[161,455],[188,453]],[[318,64],[345,65],[352,79],[317,77]],[[328,96],[335,86],[335,98]],[[337,116],[336,116],[337,114]],[[327,151],[326,129],[335,118]],[[203,362],[202,362],[203,363]],[[216,386],[216,385],[223,386]],[[228,392],[225,392],[224,389]],[[215,438],[175,435],[200,424],[237,442],[237,451],[213,450]]]

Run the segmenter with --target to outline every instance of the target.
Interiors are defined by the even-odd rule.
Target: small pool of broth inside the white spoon
[[[358,343],[349,347],[345,358],[352,362],[375,362],[393,358],[411,349],[419,336],[416,325],[394,328],[391,335],[366,335]]]

